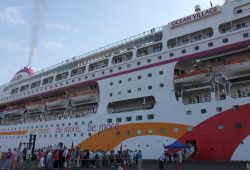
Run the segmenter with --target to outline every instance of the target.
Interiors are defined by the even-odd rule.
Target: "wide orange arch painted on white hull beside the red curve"
[[[122,141],[144,135],[157,135],[157,136],[168,136],[171,138],[178,139],[185,133],[187,133],[187,128],[190,126],[175,124],[175,123],[133,123],[127,125],[120,125],[119,127],[113,127],[106,129],[104,131],[98,132],[92,135],[86,140],[82,141],[78,146],[81,149],[91,149],[91,150],[113,150]],[[164,128],[166,133],[161,133],[160,129]],[[174,132],[173,129],[178,128],[178,132]],[[152,134],[148,133],[148,130],[153,131]],[[141,130],[141,134],[137,134],[136,131]],[[130,131],[128,135],[126,132]],[[119,132],[119,135],[117,134]]]

